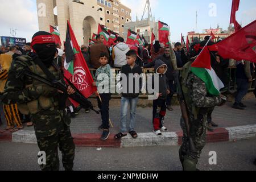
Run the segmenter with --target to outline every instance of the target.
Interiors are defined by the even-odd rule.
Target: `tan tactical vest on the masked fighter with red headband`
[[[30,71],[34,72],[37,75],[40,75],[44,78],[47,78],[46,74],[42,69],[32,61],[30,56],[19,56],[15,61],[19,61],[20,64],[28,67]],[[60,71],[58,71],[53,66],[48,68],[52,75],[55,76],[56,80],[60,79]],[[35,80],[34,78],[27,78],[25,83],[25,88],[43,86],[44,88],[49,88],[48,85],[43,84],[42,82]],[[36,114],[42,110],[53,110],[55,107],[59,106],[59,100],[57,97],[45,97],[40,96],[37,100],[27,102],[26,104],[18,104],[18,109],[22,114]]]

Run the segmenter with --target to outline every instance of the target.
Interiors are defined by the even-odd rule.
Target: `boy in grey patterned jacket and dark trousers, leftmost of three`
[[[109,101],[111,99],[110,93],[110,70],[109,65],[109,55],[105,52],[102,52],[100,55],[100,64],[101,67],[97,69],[94,76],[93,86],[98,87],[98,92],[96,94],[98,100],[98,107],[101,110],[101,119],[102,125],[98,127],[99,130],[102,130],[101,140],[107,140],[110,135],[109,131]],[[104,86],[103,86],[104,85]],[[107,86],[108,88],[105,88]],[[101,98],[101,99],[100,99]]]

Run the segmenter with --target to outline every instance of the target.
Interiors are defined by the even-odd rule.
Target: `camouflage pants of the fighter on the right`
[[[207,114],[199,116],[199,119],[191,121],[190,135],[195,144],[196,151],[191,151],[189,148],[187,130],[183,118],[180,119],[180,126],[183,130],[182,145],[180,147],[181,158],[185,156],[198,160],[200,158],[201,151],[206,144],[206,132],[207,132]],[[182,160],[182,159],[181,159]]]

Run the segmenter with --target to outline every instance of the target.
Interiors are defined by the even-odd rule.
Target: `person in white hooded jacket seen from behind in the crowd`
[[[129,46],[125,43],[125,40],[119,36],[117,40],[115,40],[117,45],[113,48],[112,57],[114,60],[115,68],[122,68],[127,64],[126,53],[130,51]]]

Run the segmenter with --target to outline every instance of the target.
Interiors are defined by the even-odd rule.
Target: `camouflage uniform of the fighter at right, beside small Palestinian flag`
[[[180,160],[183,163],[184,159],[189,159],[196,164],[206,143],[208,109],[220,105],[222,99],[221,97],[208,95],[205,83],[192,72],[188,71],[190,64],[188,63],[184,66],[184,72],[187,72],[187,76],[181,76],[181,86],[191,122],[190,135],[195,144],[196,151],[193,152],[189,148],[187,130],[184,120],[181,118],[180,125],[183,130],[183,143],[180,148]]]

